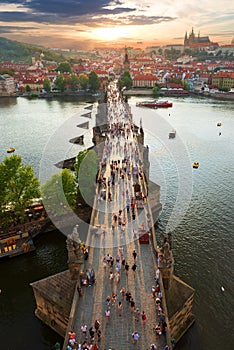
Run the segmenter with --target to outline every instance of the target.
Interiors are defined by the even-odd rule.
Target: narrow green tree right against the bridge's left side
[[[98,170],[97,155],[95,151],[85,150],[79,152],[74,168],[77,195],[81,195],[83,200],[92,206]]]

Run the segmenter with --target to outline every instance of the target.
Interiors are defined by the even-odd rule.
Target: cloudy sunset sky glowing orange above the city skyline
[[[192,27],[234,38],[233,0],[1,0],[0,36],[61,49],[183,44]]]

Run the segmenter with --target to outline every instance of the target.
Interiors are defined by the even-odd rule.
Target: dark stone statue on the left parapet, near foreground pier
[[[81,249],[82,242],[79,237],[78,225],[76,225],[72,233],[67,236],[66,245],[71,279],[75,280],[79,277],[81,265],[84,263],[84,254]]]

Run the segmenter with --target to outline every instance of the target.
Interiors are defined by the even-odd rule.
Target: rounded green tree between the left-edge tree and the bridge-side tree
[[[76,183],[69,169],[54,174],[41,186],[46,210],[53,215],[67,213],[76,207]]]

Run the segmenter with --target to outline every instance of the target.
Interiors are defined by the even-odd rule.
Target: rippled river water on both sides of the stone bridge
[[[161,186],[158,231],[173,233],[175,274],[195,289],[196,323],[177,349],[231,350],[234,104],[172,98],[172,108],[150,110],[136,107],[139,100],[131,97],[129,104],[136,124],[142,121],[145,131],[150,178]],[[91,145],[91,132],[77,128],[85,121],[93,125],[96,103],[92,119],[81,117],[89,104],[74,99],[0,99],[0,161],[14,147],[44,180],[49,174],[41,169],[42,159],[55,163],[76,155],[84,147],[68,141],[83,132],[85,146]],[[168,138],[172,130],[176,130],[175,139]],[[195,161],[200,164],[198,169],[192,168]],[[30,283],[67,269],[65,239],[54,231],[36,240],[35,252],[1,261],[0,339],[4,349],[46,350],[61,341],[34,316]]]

